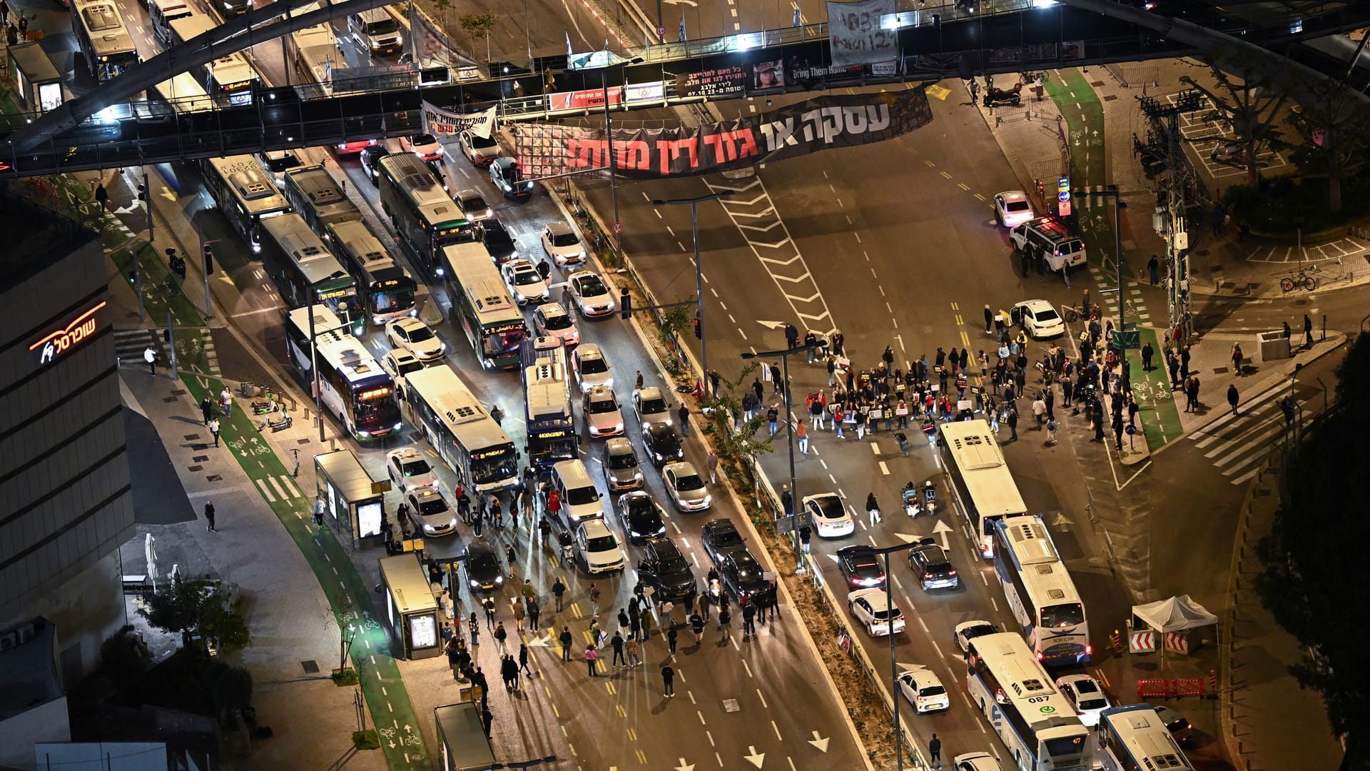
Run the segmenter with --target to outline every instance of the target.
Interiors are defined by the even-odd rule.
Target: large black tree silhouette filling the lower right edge
[[[1259,545],[1256,590],[1275,621],[1303,646],[1289,671],[1318,690],[1333,734],[1344,737],[1348,768],[1370,763],[1370,672],[1365,619],[1370,591],[1359,549],[1370,520],[1370,340],[1359,337],[1337,372],[1336,409],[1312,421],[1289,455],[1274,527]]]

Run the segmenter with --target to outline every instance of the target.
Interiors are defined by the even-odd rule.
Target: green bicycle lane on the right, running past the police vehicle
[[[1085,75],[1074,67],[1056,70],[1047,81],[1047,93],[1056,103],[1062,117],[1066,119],[1067,141],[1070,143],[1070,178],[1071,187],[1103,188],[1108,184],[1107,177],[1107,145],[1104,132],[1104,107],[1099,100]],[[1097,284],[1106,289],[1117,288],[1117,255],[1114,255],[1114,224],[1112,199],[1099,196],[1091,199],[1088,195],[1073,196],[1077,222],[1085,236],[1085,248],[1089,255],[1089,272]],[[1125,292],[1132,295],[1138,284],[1138,276],[1123,263],[1123,287],[1119,292],[1103,296],[1110,306],[1108,313],[1117,317],[1117,303],[1125,302],[1134,306],[1140,299],[1128,299]],[[1136,296],[1136,295],[1133,295]],[[1180,412],[1171,398],[1170,379],[1164,368],[1164,358],[1160,351],[1159,339],[1154,327],[1148,327],[1149,314],[1144,307],[1130,307],[1130,316],[1141,320],[1137,325],[1140,335],[1138,348],[1128,350],[1128,361],[1133,381],[1133,394],[1137,398],[1141,412],[1143,429],[1147,443],[1152,450],[1160,449],[1167,442],[1178,439],[1184,434],[1180,424]],[[1140,347],[1151,346],[1154,370],[1145,372],[1141,366]],[[1156,362],[1160,362],[1159,365]]]

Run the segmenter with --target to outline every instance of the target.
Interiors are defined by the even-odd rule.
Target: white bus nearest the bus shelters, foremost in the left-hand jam
[[[518,484],[514,442],[451,366],[411,372],[404,384],[406,417],[423,431],[467,490],[488,493]]]

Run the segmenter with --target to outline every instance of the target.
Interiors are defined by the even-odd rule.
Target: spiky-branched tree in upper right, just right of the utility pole
[[[1180,82],[1203,93],[1217,106],[1218,118],[1228,125],[1241,144],[1241,161],[1247,167],[1247,184],[1255,189],[1260,184],[1256,152],[1262,144],[1280,140],[1280,129],[1275,126],[1275,121],[1281,117],[1280,108],[1284,107],[1288,95],[1282,89],[1274,88],[1274,81],[1269,75],[1233,81],[1223,66],[1245,73],[1258,70],[1256,67],[1241,66],[1241,62],[1237,59],[1214,58],[1210,62],[1210,67],[1212,69],[1214,80],[1218,81],[1217,88],[1199,85],[1189,75],[1181,77]],[[1204,141],[1208,139],[1204,137]]]

